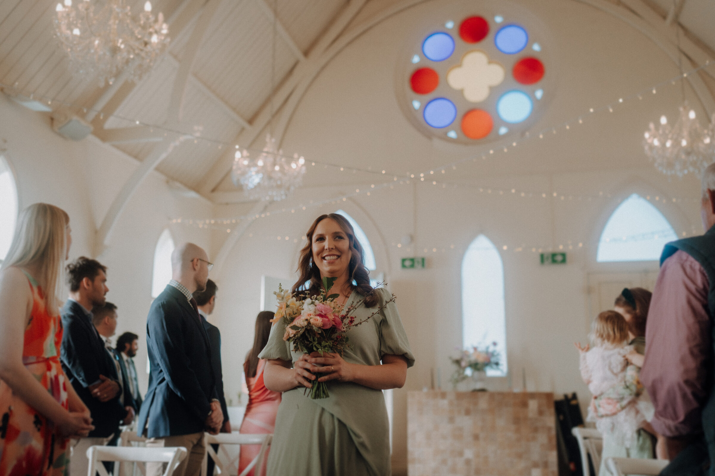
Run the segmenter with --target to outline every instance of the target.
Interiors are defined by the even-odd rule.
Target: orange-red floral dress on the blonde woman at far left
[[[25,328],[22,361],[64,408],[67,380],[59,360],[62,325],[44,305],[43,290],[25,273],[33,295]],[[54,423],[27,405],[0,380],[0,476],[66,476],[69,440],[56,434]]]

